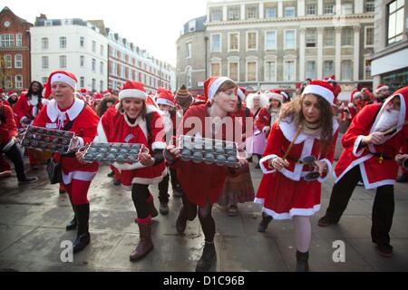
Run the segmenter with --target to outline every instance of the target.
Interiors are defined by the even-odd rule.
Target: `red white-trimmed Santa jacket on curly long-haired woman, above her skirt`
[[[295,138],[296,131],[296,125],[292,121],[276,121],[274,123],[270,132],[271,135],[267,139],[267,148],[264,152],[264,158],[259,162],[260,168],[265,174],[276,171],[276,169],[269,167],[268,161],[276,157],[282,158],[285,155],[287,148]],[[287,179],[299,181],[305,176],[305,172],[310,171],[310,169],[304,164],[300,164],[296,161],[303,160],[306,156],[311,155],[315,156],[316,160],[325,162],[327,164],[327,172],[330,173],[335,154],[335,140],[337,140],[338,136],[338,123],[335,120],[333,120],[333,131],[334,136],[332,146],[324,155],[319,153],[319,138],[301,132],[297,136],[296,141],[288,154],[287,161],[289,162],[289,167],[282,169],[280,173],[287,177]],[[318,181],[324,182],[327,177],[328,174],[326,174],[325,177],[319,178]]]

